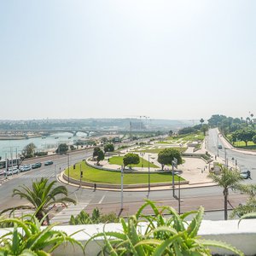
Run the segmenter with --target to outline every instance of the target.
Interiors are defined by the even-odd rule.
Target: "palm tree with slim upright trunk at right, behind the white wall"
[[[228,219],[228,195],[229,189],[236,186],[241,181],[240,172],[237,170],[230,170],[228,167],[219,165],[220,174],[210,173],[209,177],[212,177],[212,180],[215,183],[218,183],[219,187],[222,187],[224,195],[224,220]]]

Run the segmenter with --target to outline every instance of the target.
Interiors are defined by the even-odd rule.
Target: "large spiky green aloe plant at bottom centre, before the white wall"
[[[145,207],[151,207],[154,216],[143,214]],[[165,218],[163,214],[170,215]],[[241,251],[221,241],[203,240],[197,236],[204,210],[187,212],[178,215],[172,207],[156,207],[154,202],[146,201],[137,214],[128,218],[127,222],[121,218],[122,232],[101,232],[92,236],[91,240],[102,237],[105,241],[101,255],[211,255],[208,247],[222,247],[238,255]],[[188,224],[185,220],[195,214]]]

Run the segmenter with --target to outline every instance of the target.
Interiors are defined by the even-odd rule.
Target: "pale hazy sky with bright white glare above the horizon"
[[[256,114],[256,1],[0,0],[0,119]]]

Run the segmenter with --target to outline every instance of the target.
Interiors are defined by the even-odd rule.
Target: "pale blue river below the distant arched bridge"
[[[60,132],[52,134],[48,137],[34,137],[22,140],[0,140],[0,157],[2,159],[16,157],[17,154],[21,154],[21,151],[29,143],[34,143],[38,150],[57,148],[60,143],[73,144],[81,138],[87,137],[83,132],[78,132],[76,136],[72,133]]]

